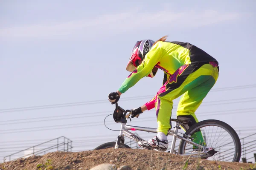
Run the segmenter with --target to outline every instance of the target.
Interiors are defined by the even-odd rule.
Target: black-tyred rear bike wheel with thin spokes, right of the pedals
[[[218,142],[218,140],[219,140],[219,137],[220,137],[220,135],[218,136],[218,138],[217,139],[215,139],[215,136],[216,136],[216,134],[215,134],[215,136],[214,136],[214,141],[211,143],[211,142],[207,142],[207,147],[213,147],[214,149],[216,149],[216,150],[218,150],[218,148],[219,148],[219,153],[217,153],[216,154],[216,156],[218,155],[218,159],[216,159],[216,160],[219,160],[219,161],[225,161],[225,159],[226,159],[226,161],[230,161],[230,160],[232,160],[233,162],[239,162],[240,161],[240,157],[241,157],[241,142],[240,142],[240,139],[239,139],[239,136],[238,136],[238,134],[236,133],[236,131],[230,126],[230,125],[228,125],[227,123],[225,123],[225,122],[222,122],[222,121],[220,121],[220,120],[215,120],[215,119],[210,119],[210,120],[204,120],[204,121],[201,121],[201,122],[198,122],[198,123],[196,123],[195,125],[193,125],[193,126],[191,126],[187,131],[186,131],[186,133],[185,133],[185,135],[193,135],[195,132],[197,132],[199,129],[202,131],[202,134],[204,134],[203,136],[204,136],[204,140],[207,140],[208,141],[208,139],[209,139],[209,136],[207,136],[207,138],[205,137],[206,135],[205,135],[205,133],[203,133],[204,131],[203,130],[205,130],[206,128],[205,127],[208,127],[208,129],[210,128],[210,127],[212,127],[212,133],[213,133],[213,127],[217,127],[217,130],[216,130],[216,133],[218,132],[218,128],[220,127],[220,128],[222,128],[222,129],[224,129],[226,132],[227,132],[227,135],[223,135],[224,137],[222,137],[220,140],[226,140],[226,141],[228,141],[226,138],[227,138],[227,136],[228,135],[230,135],[230,137],[232,138],[232,140],[233,140],[233,144],[234,144],[234,146],[232,145],[232,142],[229,142],[229,143],[227,143],[226,145],[224,144],[224,142],[226,142],[226,141],[224,141],[223,143],[222,143],[222,145],[221,146],[219,146],[219,147],[216,147],[216,145],[217,145],[217,143],[215,144],[215,146],[214,146],[214,143],[213,142],[215,142],[216,140],[217,140],[217,142]],[[202,128],[205,128],[205,129],[203,129],[202,130]],[[207,130],[205,130],[205,131],[207,131]],[[210,137],[210,140],[212,139],[212,133],[209,133],[209,132],[207,132],[207,134],[209,135],[209,134],[211,134],[211,137]],[[221,133],[221,131],[220,131],[220,133]],[[224,132],[223,132],[224,133]],[[221,135],[223,134],[223,133],[221,133]],[[186,136],[183,136],[184,138],[186,138]],[[186,144],[188,143],[188,145],[189,145],[189,142],[186,142],[185,140],[181,140],[180,141],[180,145],[179,145],[179,154],[184,154],[185,153],[185,150],[189,150],[189,149],[186,149]],[[230,145],[229,144],[231,144],[231,147],[230,147]],[[191,144],[190,144],[191,145]],[[210,146],[209,146],[210,145]],[[228,149],[228,150],[224,150],[223,152],[221,151],[221,148],[224,148],[224,147],[230,147],[231,149]],[[233,148],[234,147],[234,148]],[[229,150],[232,150],[232,149],[234,149],[234,152],[232,151],[231,153],[230,153],[230,151]],[[223,150],[223,149],[222,149]],[[229,153],[225,153],[225,152],[227,152],[227,151],[229,151]],[[222,154],[222,155],[221,155]],[[233,158],[230,158],[229,156],[228,156],[228,154],[231,154],[231,156],[233,156]],[[213,155],[214,156],[214,155]],[[212,156],[212,157],[213,157]],[[225,159],[224,159],[225,158]],[[207,158],[208,159],[208,158]],[[213,159],[213,158],[212,158]],[[215,160],[215,159],[213,159],[213,160]]]

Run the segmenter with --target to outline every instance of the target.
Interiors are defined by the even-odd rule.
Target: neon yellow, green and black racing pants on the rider
[[[183,96],[177,108],[177,116],[192,115],[196,122],[195,111],[202,103],[218,79],[218,65],[214,62],[209,64],[186,64],[181,66],[160,88],[157,93],[156,113],[157,131],[167,135],[171,128],[171,115],[173,99]]]

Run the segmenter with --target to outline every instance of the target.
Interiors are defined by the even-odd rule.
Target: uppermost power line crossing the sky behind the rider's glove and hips
[[[210,92],[228,91],[228,90],[246,89],[246,88],[256,88],[256,84],[240,85],[240,86],[233,86],[233,87],[226,87],[226,88],[217,88],[217,89],[212,89]],[[123,98],[122,101],[145,99],[145,98],[149,98],[149,97],[153,97],[153,96],[154,95],[126,97],[126,98]],[[99,104],[99,103],[107,103],[107,102],[108,102],[107,99],[104,99],[104,100],[70,102],[70,103],[62,103],[62,104],[40,105],[40,106],[30,106],[30,107],[20,107],[20,108],[7,108],[7,109],[0,109],[0,113],[15,112],[15,111],[29,111],[29,110],[47,109],[47,108],[61,108],[61,107],[70,107],[70,106],[78,106],[78,105],[91,105],[91,104]]]

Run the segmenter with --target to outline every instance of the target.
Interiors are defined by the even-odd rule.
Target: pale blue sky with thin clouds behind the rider
[[[116,140],[118,132],[103,123],[115,108],[108,94],[130,74],[125,68],[135,42],[164,35],[219,62],[218,81],[198,119],[224,121],[240,137],[254,133],[255,6],[254,0],[0,0],[0,161],[59,136],[73,141],[73,151]],[[162,82],[161,71],[141,79],[119,105],[140,107]],[[106,121],[119,130],[111,116]],[[157,127],[154,110],[129,124]]]

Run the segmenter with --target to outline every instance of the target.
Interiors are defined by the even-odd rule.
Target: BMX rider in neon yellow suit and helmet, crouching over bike
[[[126,67],[132,73],[116,92],[108,95],[109,101],[115,104],[121,94],[141,78],[154,77],[158,69],[164,71],[163,86],[156,96],[145,105],[132,110],[131,117],[134,118],[146,110],[156,108],[157,136],[148,142],[138,142],[143,148],[167,149],[168,130],[172,128],[172,101],[182,94],[177,119],[190,122],[183,126],[184,130],[197,123],[195,111],[218,79],[219,67],[216,59],[188,42],[166,42],[166,39],[167,36],[156,42],[138,41]],[[196,143],[204,142],[201,132],[196,132],[192,137]]]

